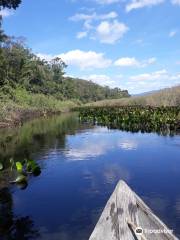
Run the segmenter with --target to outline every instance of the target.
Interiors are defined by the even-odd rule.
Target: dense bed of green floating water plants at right
[[[83,107],[79,112],[81,121],[113,129],[163,135],[180,132],[180,107]]]

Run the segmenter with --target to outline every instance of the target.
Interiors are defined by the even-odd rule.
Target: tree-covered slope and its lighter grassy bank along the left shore
[[[20,39],[1,39],[0,60],[0,128],[88,102],[130,96],[126,90],[66,77],[67,66],[60,58],[42,60]]]

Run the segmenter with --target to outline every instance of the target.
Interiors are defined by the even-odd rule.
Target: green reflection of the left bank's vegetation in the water
[[[21,128],[0,130],[0,159],[8,167],[9,159],[23,160],[42,149],[64,148],[65,135],[79,129],[76,114],[36,119]]]

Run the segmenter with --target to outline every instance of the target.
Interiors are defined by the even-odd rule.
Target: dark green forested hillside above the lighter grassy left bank
[[[31,94],[53,96],[58,100],[75,99],[83,103],[128,97],[127,91],[110,89],[91,81],[64,76],[66,64],[55,58],[40,59],[20,39],[5,37],[0,49],[0,92],[13,97],[13,89],[23,88]]]

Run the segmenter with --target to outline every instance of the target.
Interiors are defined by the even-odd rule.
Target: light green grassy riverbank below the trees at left
[[[71,111],[80,105],[78,101],[61,101],[44,94],[14,92],[13,97],[1,97],[0,128],[20,126],[25,121]]]

